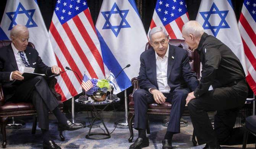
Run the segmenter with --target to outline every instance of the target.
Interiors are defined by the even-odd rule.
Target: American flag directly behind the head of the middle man
[[[149,31],[156,26],[161,26],[171,39],[183,39],[181,29],[188,21],[185,0],[157,0]]]

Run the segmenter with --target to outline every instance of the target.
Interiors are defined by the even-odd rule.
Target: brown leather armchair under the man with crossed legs
[[[0,40],[0,48],[2,46],[9,45],[11,43],[10,40]],[[34,44],[29,42],[28,46],[35,48]],[[61,100],[61,95],[58,94],[55,90],[55,84],[57,83],[57,79],[53,78],[48,81],[48,85],[52,90],[53,95],[58,100],[59,108],[63,112],[63,103]],[[32,127],[32,134],[36,133],[36,125],[37,125],[37,117],[36,117],[36,109],[32,103],[5,103],[3,87],[0,82],[0,127],[3,136],[3,143],[2,147],[6,147],[6,131],[5,126],[9,117],[19,117],[19,116],[27,116],[27,115],[34,115],[33,119],[33,127]],[[60,137],[62,141],[64,141],[64,137],[62,136],[62,132],[60,133]],[[64,139],[63,139],[64,138]]]

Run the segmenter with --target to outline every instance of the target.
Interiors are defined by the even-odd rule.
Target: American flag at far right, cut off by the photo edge
[[[246,80],[256,94],[256,0],[245,0],[238,27],[246,55]]]

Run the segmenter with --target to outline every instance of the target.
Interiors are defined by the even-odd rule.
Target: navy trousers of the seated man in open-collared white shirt
[[[188,93],[188,88],[179,89],[173,93],[164,93],[167,98],[165,101],[172,104],[167,131],[180,133],[180,118],[184,112]],[[148,90],[139,89],[134,92],[133,99],[135,111],[134,128],[146,130],[147,105],[155,102],[153,95]]]

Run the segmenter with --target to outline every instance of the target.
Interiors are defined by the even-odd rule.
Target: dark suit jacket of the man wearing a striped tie
[[[51,67],[46,66],[44,62],[42,62],[42,59],[35,49],[28,46],[24,52],[26,53],[30,66],[35,68],[35,73],[45,74],[47,76],[53,75]],[[10,81],[10,74],[15,70],[19,69],[11,44],[0,48],[0,82],[5,91],[5,100],[10,98],[14,93],[13,88],[11,88],[13,81]],[[8,88],[10,88],[10,90]],[[6,93],[8,93],[8,95],[6,95]]]

